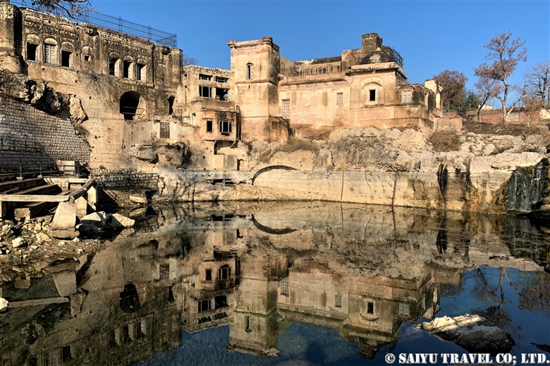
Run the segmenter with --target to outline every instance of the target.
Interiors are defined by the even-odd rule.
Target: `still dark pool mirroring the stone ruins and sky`
[[[4,365],[386,365],[467,353],[415,327],[465,313],[507,329],[518,364],[550,360],[545,222],[319,202],[133,215],[102,251],[2,273]]]

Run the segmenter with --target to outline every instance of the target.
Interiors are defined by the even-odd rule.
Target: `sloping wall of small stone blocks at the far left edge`
[[[90,161],[90,146],[77,136],[71,120],[0,97],[0,166],[48,167],[55,160]]]

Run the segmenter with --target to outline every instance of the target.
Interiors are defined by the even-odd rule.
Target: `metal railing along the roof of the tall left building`
[[[71,21],[80,23],[89,23],[97,25],[98,27],[104,27],[116,32],[122,32],[130,34],[136,37],[148,39],[155,44],[161,44],[163,46],[177,47],[178,36],[161,30],[154,29],[150,26],[140,25],[133,23],[123,18],[116,18],[112,15],[99,13],[94,9],[85,8],[84,6],[77,6],[76,8],[72,4],[68,4],[66,1],[61,1],[59,4],[63,8],[47,8],[39,4],[32,4],[32,0],[11,0],[11,4],[22,8],[30,8],[42,13],[51,13],[53,15],[59,15],[63,18],[67,18]]]

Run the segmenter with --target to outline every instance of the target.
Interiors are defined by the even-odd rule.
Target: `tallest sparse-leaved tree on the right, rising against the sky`
[[[486,60],[493,61],[492,65],[482,63],[479,68],[475,68],[476,76],[496,80],[502,83],[501,92],[496,96],[502,103],[502,122],[506,122],[508,115],[512,113],[515,105],[523,99],[527,93],[527,87],[520,89],[518,99],[513,101],[508,109],[508,96],[511,92],[518,90],[518,86],[510,84],[508,79],[511,77],[520,61],[527,61],[527,49],[523,46],[525,41],[520,38],[511,39],[512,32],[498,33],[491,41],[484,46],[489,52],[485,56]]]

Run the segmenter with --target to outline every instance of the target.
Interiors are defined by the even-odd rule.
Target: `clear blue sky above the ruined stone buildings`
[[[92,8],[176,33],[178,48],[208,68],[230,68],[228,39],[273,37],[291,61],[340,56],[377,32],[396,49],[411,83],[443,70],[477,81],[473,68],[497,33],[525,40],[527,62],[512,78],[521,83],[536,63],[550,61],[550,1],[182,1],[91,0]]]

